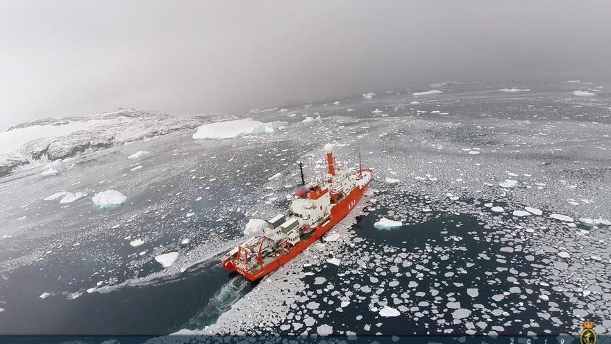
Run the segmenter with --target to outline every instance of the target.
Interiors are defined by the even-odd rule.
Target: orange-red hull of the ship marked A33
[[[371,173],[371,170],[369,169],[363,169],[361,171]],[[365,186],[354,188],[351,193],[341,199],[340,202],[337,202],[337,204],[335,204],[333,208],[331,208],[330,219],[328,220],[328,222],[324,222],[324,226],[321,225],[317,227],[312,236],[310,236],[310,238],[308,238],[307,240],[301,240],[299,243],[291,247],[289,252],[284,255],[278,256],[278,258],[274,261],[271,261],[270,263],[267,263],[266,265],[262,266],[260,270],[249,272],[242,268],[239,268],[231,261],[231,257],[228,257],[223,261],[223,267],[227,270],[237,272],[238,274],[244,276],[244,278],[248,279],[251,282],[258,281],[262,277],[265,277],[265,275],[274,272],[274,270],[280,268],[282,265],[284,265],[285,263],[296,257],[298,254],[303,252],[304,249],[308,248],[308,246],[312,245],[312,243],[314,243],[316,240],[319,240],[319,238],[321,238],[321,236],[324,236],[324,234],[330,231],[330,229],[332,229],[335,224],[343,220],[346,215],[348,215],[352,211],[352,209],[358,204],[358,202],[360,202],[360,199],[365,194],[365,191],[369,187],[370,182],[371,180],[369,180],[369,182],[365,184]]]

